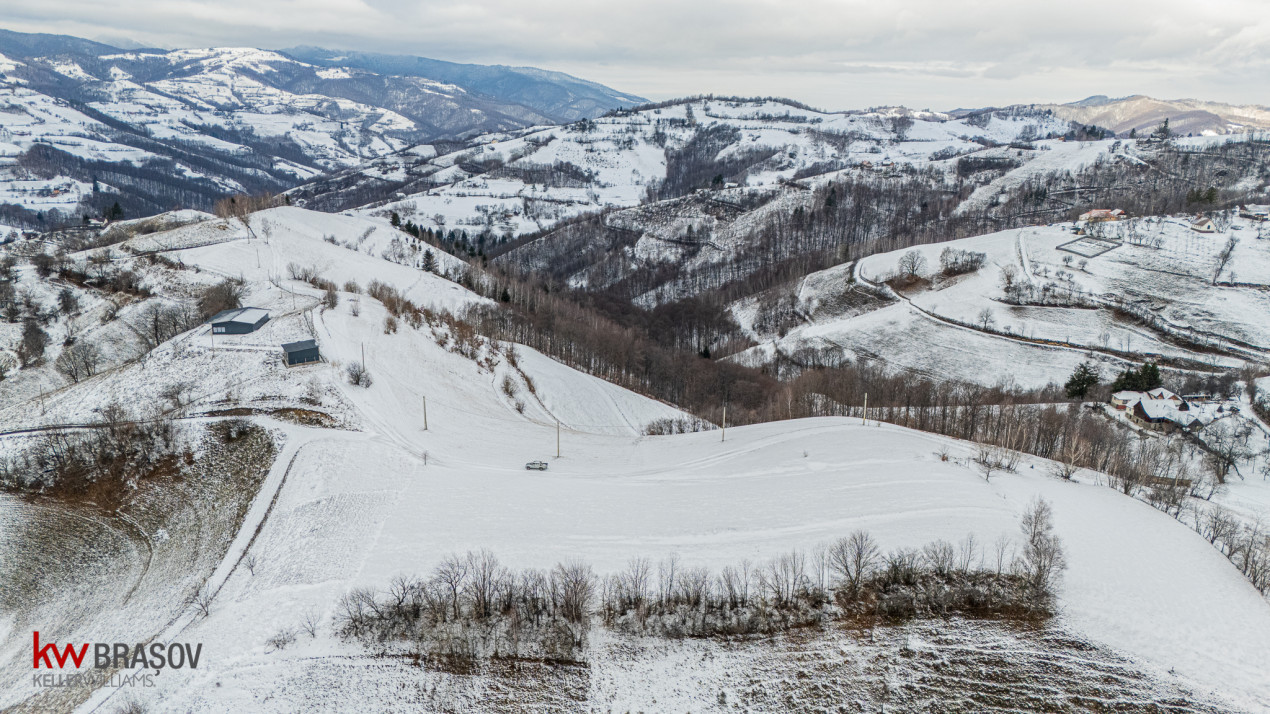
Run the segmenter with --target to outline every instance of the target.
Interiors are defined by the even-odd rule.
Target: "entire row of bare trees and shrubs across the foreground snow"
[[[1030,503],[1020,531],[1021,540],[1002,536],[991,553],[974,535],[883,553],[856,531],[810,554],[719,573],[677,556],[655,565],[632,558],[605,577],[579,562],[513,570],[489,550],[469,551],[428,577],[348,592],[334,625],[345,638],[410,643],[429,662],[469,670],[491,657],[580,659],[593,616],[620,631],[672,638],[771,634],[843,617],[1046,617],[1064,568],[1050,506]]]

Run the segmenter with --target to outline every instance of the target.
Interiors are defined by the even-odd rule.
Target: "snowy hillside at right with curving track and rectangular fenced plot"
[[[790,296],[804,321],[782,337],[754,329],[757,300],[738,302],[738,321],[762,344],[737,360],[809,351],[936,379],[1039,387],[1062,382],[1091,356],[1107,374],[1143,360],[1212,371],[1270,356],[1264,224],[1236,217],[1223,232],[1200,234],[1184,217],[1134,219],[1083,238],[1073,227],[922,245],[813,273]],[[1232,257],[1219,267],[1232,240]],[[983,266],[945,274],[946,250],[982,254]],[[914,278],[900,267],[909,254],[921,257]],[[1007,281],[1017,287],[1007,290]],[[836,307],[861,287],[890,301]],[[999,368],[984,370],[986,356]]]

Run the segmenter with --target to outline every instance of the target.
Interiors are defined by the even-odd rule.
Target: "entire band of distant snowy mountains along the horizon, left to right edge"
[[[719,164],[706,179],[770,183],[904,152],[947,160],[1052,136],[1128,136],[1165,118],[1179,135],[1270,128],[1265,107],[1147,97],[950,113],[711,98],[700,116],[678,117],[673,107],[691,103],[616,112],[596,131],[591,119],[646,102],[533,67],[319,47],[123,50],[0,30],[0,232],[113,213],[114,203],[135,217],[296,189],[323,210],[422,194],[399,212],[519,234],[701,188],[692,172],[706,164]],[[912,151],[897,147],[906,144]],[[701,165],[678,175],[682,152]]]

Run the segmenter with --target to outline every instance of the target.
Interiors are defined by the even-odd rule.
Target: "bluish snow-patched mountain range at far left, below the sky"
[[[114,201],[127,215],[207,207],[420,144],[641,102],[531,67],[318,48],[121,50],[0,30],[0,224]]]

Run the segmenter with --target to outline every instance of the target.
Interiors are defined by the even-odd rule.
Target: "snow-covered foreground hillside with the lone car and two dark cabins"
[[[1020,513],[1039,495],[1053,504],[1068,558],[1060,611],[1044,637],[1077,643],[1059,647],[1054,657],[1078,650],[1087,670],[1106,668],[1123,681],[1088,696],[1105,696],[1107,705],[1133,696],[1194,708],[1182,710],[1270,706],[1270,605],[1203,537],[1101,485],[1097,474],[1062,482],[1044,460],[1024,459],[1016,473],[986,480],[970,468],[973,448],[965,442],[847,418],[729,428],[725,436],[719,429],[645,436],[654,421],[687,415],[525,347],[465,337],[444,314],[484,299],[438,274],[460,268],[452,258],[438,257],[436,273],[410,259],[387,259],[401,258],[392,244],[403,234],[386,221],[284,207],[253,215],[250,225],[249,232],[237,222],[206,219],[135,236],[110,254],[142,273],[152,291],[146,300],[177,300],[198,286],[241,280],[245,301],[272,314],[260,330],[212,335],[199,324],[144,358],[112,362],[56,389],[47,389],[60,379],[51,371],[38,382],[25,375],[36,370],[24,368],[5,380],[10,391],[0,410],[6,456],[39,438],[19,429],[91,423],[110,401],[159,403],[178,384],[184,386],[171,413],[182,429],[210,428],[226,414],[246,415],[267,429],[251,438],[272,459],[264,466],[253,461],[257,470],[244,471],[246,485],[199,492],[194,503],[202,507],[170,513],[151,504],[97,515],[81,520],[74,542],[56,531],[33,531],[32,523],[80,522],[79,511],[61,512],[56,501],[0,497],[0,563],[18,558],[50,573],[28,586],[32,597],[0,597],[0,661],[28,662],[29,631],[38,623],[64,642],[199,642],[203,662],[197,670],[165,671],[154,687],[104,687],[76,699],[39,691],[11,664],[3,668],[14,675],[0,681],[0,705],[34,696],[28,706],[81,711],[113,711],[132,700],[150,711],[351,711],[404,704],[442,711],[491,696],[483,692],[508,680],[419,668],[337,637],[343,595],[386,588],[396,576],[420,574],[451,553],[481,548],[514,568],[578,558],[607,574],[631,558],[672,554],[685,567],[718,572],[740,559],[759,563],[812,549],[855,529],[867,529],[886,549],[956,541],[968,532],[988,544],[1017,537]],[[1043,248],[1046,240],[1058,238],[986,236],[966,248],[1005,260],[1011,246],[1026,244],[1021,259],[1040,263],[1054,255]],[[164,262],[147,267],[147,255]],[[859,280],[879,278],[892,258],[862,263]],[[19,276],[24,283],[28,268]],[[297,268],[316,277],[295,280]],[[829,278],[812,283],[823,291]],[[316,280],[335,287],[326,291]],[[372,280],[394,286],[425,309],[425,318],[387,329],[389,307],[366,293]],[[818,297],[806,299],[814,314]],[[80,339],[103,329],[94,327]],[[279,344],[304,338],[316,340],[323,362],[283,366]],[[375,377],[366,387],[345,375],[347,366],[363,360]],[[307,421],[297,422],[302,414]],[[234,443],[210,441],[201,448],[208,459],[221,457],[224,450],[244,448]],[[531,460],[545,460],[549,469],[526,470]],[[171,487],[151,482],[140,493],[161,495],[164,488],[204,482],[215,478]],[[32,548],[33,539],[48,545]],[[56,555],[72,551],[84,556]],[[76,591],[67,584],[76,578],[97,587]],[[187,600],[201,589],[211,593],[206,616],[188,605],[197,597]],[[315,624],[312,635],[304,633],[306,616]],[[879,631],[883,642],[890,637]],[[965,638],[954,647],[972,649],[989,639],[999,647],[1002,638],[1031,656],[1049,647],[991,624],[895,631],[907,633],[904,652],[928,647],[946,654],[937,644],[945,635]],[[824,647],[839,652],[833,657],[878,656],[874,648],[885,647],[867,635],[826,637]],[[838,637],[847,639],[832,644]],[[798,647],[799,640],[776,642]],[[569,706],[721,711],[725,699],[757,696],[765,687],[780,692],[799,678],[756,649],[711,640],[645,645],[597,634],[587,684],[568,695]],[[714,658],[772,673],[748,690],[725,682],[729,670],[710,664]],[[911,667],[902,658],[898,671]],[[560,675],[541,676],[549,678],[532,696],[555,696],[546,682]],[[906,677],[874,684],[892,691]],[[533,686],[537,680],[518,681]],[[1077,689],[1063,696],[1081,691]],[[859,696],[874,701],[875,695]]]

